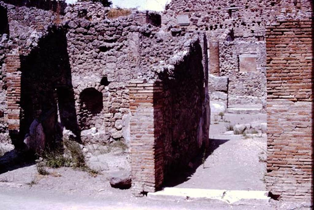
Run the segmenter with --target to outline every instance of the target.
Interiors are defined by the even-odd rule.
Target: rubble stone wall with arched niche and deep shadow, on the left
[[[110,8],[100,3],[71,5],[64,16],[3,5],[8,8],[10,26],[5,49],[22,58],[19,71],[25,88],[19,139],[43,109],[58,105],[62,126],[75,133],[78,141],[125,139],[128,143],[128,81],[157,78],[160,72],[151,66],[165,63],[193,37],[160,30],[160,15],[151,12],[129,10],[125,16],[109,19]],[[62,50],[56,52],[50,49],[52,45]],[[38,81],[39,77],[43,79]],[[33,105],[23,102],[33,98]],[[91,133],[91,128],[96,128],[96,133]]]

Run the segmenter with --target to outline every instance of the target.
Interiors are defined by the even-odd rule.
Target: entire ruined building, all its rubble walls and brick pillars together
[[[311,8],[172,0],[162,14],[110,18],[100,3],[2,1],[1,141],[36,152],[65,133],[84,144],[124,139],[140,195],[208,146],[209,99],[254,107],[268,115],[268,189],[309,199]]]

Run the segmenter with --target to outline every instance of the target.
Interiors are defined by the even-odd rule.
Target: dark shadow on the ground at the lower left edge
[[[11,150],[0,157],[0,174],[35,164],[35,158],[23,150]]]

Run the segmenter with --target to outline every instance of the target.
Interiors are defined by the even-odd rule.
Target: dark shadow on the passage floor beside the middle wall
[[[174,187],[191,179],[191,176],[195,173],[196,169],[203,164],[204,160],[206,160],[207,157],[210,156],[220,145],[229,140],[230,139],[209,139],[208,148],[203,148],[202,152],[200,152],[186,168],[181,169],[181,171],[175,173],[176,175],[173,175],[165,180],[163,187]]]

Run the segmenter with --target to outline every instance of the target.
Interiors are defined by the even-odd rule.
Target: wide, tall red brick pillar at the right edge
[[[266,30],[267,188],[284,200],[312,193],[312,21],[277,20]]]

